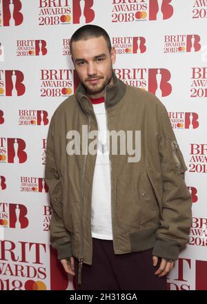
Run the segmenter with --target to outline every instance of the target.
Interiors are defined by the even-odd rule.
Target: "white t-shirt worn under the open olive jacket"
[[[106,133],[106,109],[104,102],[93,103],[92,106],[97,118],[99,144],[92,182],[91,231],[94,238],[112,240],[110,159]]]

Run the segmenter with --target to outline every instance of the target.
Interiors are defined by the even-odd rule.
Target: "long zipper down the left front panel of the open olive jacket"
[[[88,117],[88,133],[90,132],[90,121],[91,118],[90,116]],[[88,153],[88,138],[87,138],[87,153]],[[82,247],[81,247],[81,255],[79,258],[79,270],[78,270],[78,284],[81,284],[81,269],[83,265],[83,184],[84,184],[84,175],[85,175],[85,169],[86,169],[86,157],[87,154],[84,154],[84,159],[83,159],[83,171],[81,175],[81,212],[80,212],[80,222],[81,222],[81,237],[82,237]]]

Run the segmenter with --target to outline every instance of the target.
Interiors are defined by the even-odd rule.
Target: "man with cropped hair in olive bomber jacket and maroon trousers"
[[[77,289],[166,289],[166,274],[188,243],[192,205],[166,108],[117,79],[103,28],[82,26],[70,50],[80,84],[52,115],[47,140],[52,247]],[[75,153],[71,131],[73,139],[80,135]],[[91,131],[99,131],[96,153],[84,153]],[[112,153],[106,131],[139,132],[137,160],[119,147]]]

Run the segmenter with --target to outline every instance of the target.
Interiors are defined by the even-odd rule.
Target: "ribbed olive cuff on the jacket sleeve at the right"
[[[177,260],[179,256],[179,245],[175,242],[168,242],[167,240],[157,240],[152,250],[152,255],[168,260]]]

